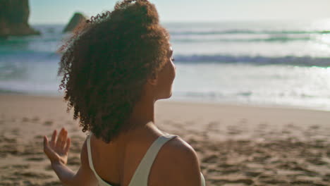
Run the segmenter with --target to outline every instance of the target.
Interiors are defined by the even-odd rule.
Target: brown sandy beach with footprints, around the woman
[[[207,185],[330,185],[330,112],[159,101],[156,124],[196,151]],[[42,136],[65,127],[77,170],[81,132],[61,97],[0,95],[0,185],[61,185]]]

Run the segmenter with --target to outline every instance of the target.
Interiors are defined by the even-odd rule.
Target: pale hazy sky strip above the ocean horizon
[[[149,0],[161,22],[240,20],[322,20],[330,18],[330,0]],[[87,17],[111,11],[114,0],[30,0],[31,24],[68,23],[75,12]]]

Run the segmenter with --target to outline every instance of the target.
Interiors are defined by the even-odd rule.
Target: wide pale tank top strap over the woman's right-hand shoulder
[[[143,156],[143,159],[140,161],[140,164],[135,170],[135,173],[128,186],[147,185],[152,163],[154,163],[154,159],[156,159],[159,150],[166,142],[173,139],[174,137],[178,137],[178,135],[169,135],[166,133],[166,135],[158,137],[157,140],[152,143],[145,156]]]

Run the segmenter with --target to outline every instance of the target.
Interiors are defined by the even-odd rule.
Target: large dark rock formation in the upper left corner
[[[0,0],[0,37],[39,35],[28,25],[28,0]]]

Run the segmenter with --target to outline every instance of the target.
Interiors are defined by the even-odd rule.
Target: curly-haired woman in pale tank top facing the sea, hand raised
[[[64,185],[204,185],[194,149],[154,122],[154,103],[171,97],[176,67],[153,4],[117,3],[62,50],[60,88],[82,131],[90,131],[77,173],[66,166],[67,130],[54,130],[50,141],[44,136],[44,152]]]

